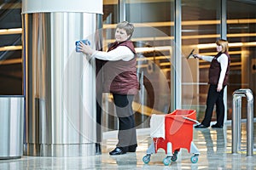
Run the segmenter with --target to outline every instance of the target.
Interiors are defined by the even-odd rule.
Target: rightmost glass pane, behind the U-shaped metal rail
[[[239,8],[238,8],[239,7]],[[232,93],[239,88],[250,88],[254,96],[256,116],[256,2],[227,1],[227,37],[230,42],[230,86],[228,106],[231,117]],[[242,98],[242,118],[247,117],[247,101]]]

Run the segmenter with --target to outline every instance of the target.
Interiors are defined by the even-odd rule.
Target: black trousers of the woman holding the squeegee
[[[206,127],[210,126],[212,120],[212,111],[214,105],[216,105],[216,114],[217,114],[217,124],[223,126],[224,123],[224,88],[220,92],[217,92],[217,85],[210,85],[207,94],[207,109],[204,120],[201,124]]]

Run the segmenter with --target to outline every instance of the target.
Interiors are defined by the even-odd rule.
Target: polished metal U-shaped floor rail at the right
[[[236,154],[241,144],[241,97],[247,98],[247,156],[253,156],[253,93],[247,88],[233,93],[232,153]]]

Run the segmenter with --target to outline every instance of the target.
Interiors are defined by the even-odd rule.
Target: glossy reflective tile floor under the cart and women
[[[102,155],[81,157],[39,157],[22,156],[20,159],[0,160],[1,170],[31,170],[31,169],[256,169],[256,123],[254,122],[254,156],[247,156],[246,123],[241,124],[241,151],[231,154],[232,131],[231,124],[225,124],[223,129],[194,129],[194,143],[200,156],[197,163],[192,163],[186,149],[181,149],[177,161],[169,166],[163,164],[165,150],[151,156],[148,164],[143,162],[143,156],[151,139],[148,128],[137,130],[138,148],[136,153],[121,156],[109,156],[117,140],[116,132],[104,133]]]

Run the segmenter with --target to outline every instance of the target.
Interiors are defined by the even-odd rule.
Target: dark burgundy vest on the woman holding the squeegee
[[[218,62],[218,57],[223,54],[223,53],[218,53],[211,62],[210,65],[210,69],[209,69],[209,84],[212,85],[217,85],[218,84],[218,79],[220,76],[220,71],[221,71],[221,67],[220,67],[220,63]],[[228,56],[228,67],[227,67],[227,71],[224,77],[224,82],[223,82],[223,86],[228,84],[228,79],[229,79],[229,72],[230,72],[230,55],[228,53],[225,53]]]

